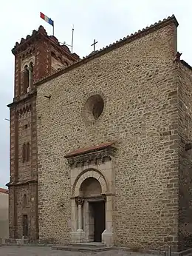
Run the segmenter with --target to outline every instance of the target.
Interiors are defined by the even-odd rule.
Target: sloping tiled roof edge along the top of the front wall
[[[156,22],[152,24],[150,27],[145,27],[143,28],[143,30],[138,30],[134,34],[131,34],[130,36],[126,36],[123,39],[120,39],[119,41],[114,42],[113,44],[109,44],[109,46],[103,47],[103,49],[96,51],[94,54],[83,57],[83,59],[78,60],[77,62],[70,65],[69,67],[66,67],[64,70],[60,70],[57,73],[54,73],[52,75],[48,75],[47,77],[42,78],[41,80],[37,81],[35,85],[38,86],[38,85],[44,84],[45,82],[52,80],[53,78],[57,78],[59,75],[63,75],[64,73],[67,73],[69,70],[75,69],[75,67],[79,67],[81,64],[86,64],[88,61],[94,58],[100,57],[100,55],[109,53],[110,51],[116,49],[117,47],[121,47],[124,44],[128,44],[131,41],[137,40],[138,38],[148,35],[149,33],[159,30],[160,28],[165,27],[171,23],[174,23],[176,27],[178,27],[179,25],[174,15],[169,16],[168,18],[164,18],[162,21]]]

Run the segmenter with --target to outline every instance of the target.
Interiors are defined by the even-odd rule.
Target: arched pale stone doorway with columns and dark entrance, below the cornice
[[[72,243],[101,241],[107,246],[114,244],[112,197],[109,181],[99,169],[85,169],[75,176],[71,197]]]

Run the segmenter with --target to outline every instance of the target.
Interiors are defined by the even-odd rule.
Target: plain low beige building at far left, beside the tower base
[[[0,238],[9,238],[9,195],[0,188]]]

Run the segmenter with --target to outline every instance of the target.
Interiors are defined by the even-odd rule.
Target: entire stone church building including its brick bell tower
[[[177,26],[83,59],[43,27],[16,44],[10,238],[192,247],[192,68]]]

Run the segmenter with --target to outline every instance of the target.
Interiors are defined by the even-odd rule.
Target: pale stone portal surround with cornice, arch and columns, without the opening
[[[101,242],[106,246],[114,245],[113,201],[114,201],[114,153],[113,143],[78,149],[65,158],[71,167],[71,242],[93,242],[94,229],[90,226],[89,203],[105,202],[105,230]],[[101,194],[83,198],[81,185],[88,178],[94,178],[100,184]],[[83,206],[84,205],[84,206]],[[90,227],[89,227],[90,226]]]

